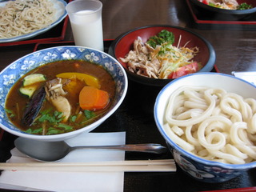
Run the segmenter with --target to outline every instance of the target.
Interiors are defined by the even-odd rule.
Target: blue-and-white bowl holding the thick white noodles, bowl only
[[[244,98],[256,99],[256,86],[227,74],[207,72],[189,74],[182,78],[177,78],[163,87],[155,102],[154,120],[162,137],[165,138],[177,165],[192,178],[198,181],[212,183],[226,182],[246,170],[255,168],[256,162],[234,165],[198,158],[198,156],[183,150],[170,138],[168,131],[166,131],[163,126],[165,109],[170,94],[181,86],[210,86],[222,88],[228,92],[240,94]]]

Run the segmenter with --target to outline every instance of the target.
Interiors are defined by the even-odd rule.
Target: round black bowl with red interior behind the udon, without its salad
[[[133,30],[129,30],[124,34],[121,34],[114,40],[110,46],[109,54],[118,60],[126,70],[128,78],[134,82],[142,83],[147,86],[165,86],[168,82],[174,78],[148,78],[142,75],[135,74],[128,69],[127,63],[123,62],[122,58],[133,50],[134,40],[141,38],[145,43],[148,39],[162,30],[166,30],[174,34],[174,46],[186,46],[186,47],[198,47],[198,53],[193,58],[194,61],[200,62],[202,68],[197,72],[210,72],[214,68],[214,62],[216,59],[214,47],[203,38],[202,35],[196,34],[186,28],[179,26],[166,26],[166,25],[154,25],[154,26],[142,26]],[[183,71],[184,72],[184,71]],[[185,73],[186,74],[186,73]]]

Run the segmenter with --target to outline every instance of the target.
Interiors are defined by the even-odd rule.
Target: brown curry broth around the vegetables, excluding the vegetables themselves
[[[96,121],[99,117],[102,116],[102,114],[105,114],[107,112],[107,110],[110,108],[110,105],[114,99],[115,83],[111,75],[102,66],[98,66],[94,63],[90,63],[82,60],[51,62],[44,66],[39,66],[38,68],[30,71],[30,73],[28,74],[35,74],[35,73],[44,74],[46,76],[46,81],[48,81],[56,78],[57,74],[62,74],[67,72],[90,74],[95,78],[98,78],[99,84],[101,85],[100,89],[105,90],[110,95],[110,102],[108,106],[106,106],[106,108],[103,110],[94,111],[94,114],[97,118],[93,118],[93,121],[87,121],[86,123],[83,123],[83,124],[78,122],[71,122],[71,121],[65,122],[65,124],[67,124],[68,126],[73,127],[72,130],[78,130],[83,126],[86,126]],[[38,129],[38,127],[42,125],[38,125],[36,123],[34,123],[30,127],[22,125],[22,113],[25,110],[26,105],[30,101],[28,97],[26,97],[25,95],[22,95],[19,92],[19,88],[22,86],[23,78],[25,78],[26,75],[20,78],[18,82],[16,82],[14,86],[10,89],[10,92],[6,98],[6,109],[11,110],[14,113],[14,117],[11,118],[9,115],[9,118],[10,118],[10,121],[14,123],[14,125],[17,126],[19,129],[27,130],[30,128],[32,130],[36,130]],[[82,87],[86,86],[86,83],[85,82],[79,82],[79,83],[80,83],[79,89],[74,90],[73,93],[66,94],[66,98],[70,102],[70,106],[72,109],[71,115],[74,115],[75,113],[77,113],[78,109],[82,110],[81,108],[79,108],[79,105],[78,105],[78,94],[80,90],[82,90]],[[65,90],[65,86],[63,86],[63,90]],[[54,106],[51,106],[50,102],[47,102],[45,99],[45,101],[43,102],[41,111],[47,110],[50,107],[54,108]],[[71,131],[71,130],[68,130],[68,131]]]

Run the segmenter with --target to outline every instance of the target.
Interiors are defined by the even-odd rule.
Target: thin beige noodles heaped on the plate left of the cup
[[[49,0],[16,0],[0,8],[0,38],[14,38],[50,26],[56,10]]]

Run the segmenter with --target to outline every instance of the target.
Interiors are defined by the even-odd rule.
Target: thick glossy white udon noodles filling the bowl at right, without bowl
[[[226,90],[182,86],[170,95],[164,128],[182,149],[230,164],[256,160],[256,99]]]

